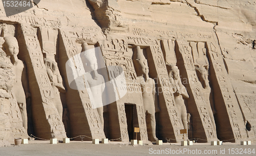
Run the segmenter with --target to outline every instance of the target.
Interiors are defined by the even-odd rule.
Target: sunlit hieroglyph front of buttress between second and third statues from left
[[[66,32],[66,31],[60,30],[60,34],[61,34],[63,44],[65,45],[66,55],[68,56],[68,59],[72,59],[72,62],[71,62],[73,64],[72,66],[75,66],[76,70],[82,70],[79,67],[80,65],[82,65],[81,59],[74,57],[80,53],[76,46],[77,38],[72,37],[74,35],[74,32],[72,31]],[[77,72],[77,71],[72,71],[72,72]],[[80,71],[80,73],[83,73],[83,72]],[[72,74],[76,75],[77,73],[72,73]],[[85,114],[87,118],[87,119],[82,119],[83,124],[86,124],[88,122],[89,127],[87,127],[88,129],[83,129],[83,131],[79,131],[79,128],[74,129],[72,132],[73,134],[71,135],[84,134],[85,132],[90,131],[92,138],[105,138],[103,127],[100,123],[99,115],[97,113],[97,109],[92,108],[91,101],[89,99],[89,94],[85,87],[86,81],[84,80],[84,77],[83,76],[77,77],[77,79],[74,80],[74,83],[75,83],[75,86],[77,86],[76,88],[78,89],[79,100],[80,100],[79,103],[81,104],[81,106],[74,106],[72,105],[72,103],[68,103],[69,108],[71,108],[70,114],[75,113],[73,111],[78,111],[77,108],[83,108],[82,114]],[[69,94],[69,90],[67,94]],[[78,105],[78,103],[76,103],[76,105]],[[76,122],[76,121],[71,121],[71,122]]]

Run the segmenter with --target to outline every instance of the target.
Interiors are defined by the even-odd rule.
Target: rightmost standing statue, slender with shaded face
[[[210,89],[209,80],[208,80],[208,71],[206,70],[205,67],[196,67],[196,70],[198,72],[199,81],[201,82],[203,87],[202,91],[203,91],[204,99],[206,101],[206,108],[209,112],[212,125],[214,125],[214,128],[216,130],[214,113],[212,112],[212,110],[214,110],[215,112],[214,105],[213,105],[214,102],[210,102],[210,100],[212,99],[210,98],[211,89]]]

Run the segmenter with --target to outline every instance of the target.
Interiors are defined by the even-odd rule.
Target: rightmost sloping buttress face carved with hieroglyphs
[[[236,139],[236,141],[243,139],[247,136],[243,116],[240,111],[238,101],[236,100],[236,95],[234,95],[234,92],[232,90],[230,80],[226,77],[227,73],[224,72],[225,65],[222,59],[222,55],[220,53],[220,50],[218,50],[216,43],[214,42],[207,42],[207,48],[210,61],[215,71],[217,83],[221,90],[222,98],[224,100],[223,104],[225,105],[224,107],[226,108],[227,115],[229,117],[229,122],[232,129],[231,138]],[[222,123],[220,122],[219,124]],[[228,125],[223,126],[227,127]],[[227,138],[225,134],[218,134],[219,137]]]

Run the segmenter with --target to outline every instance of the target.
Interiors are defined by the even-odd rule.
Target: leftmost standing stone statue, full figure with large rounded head
[[[27,70],[26,66],[22,60],[19,60],[17,55],[19,52],[18,42],[15,37],[7,36],[4,37],[4,49],[7,57],[11,60],[13,64],[13,69],[15,71],[15,81],[13,85],[14,94],[17,99],[17,103],[22,114],[23,127],[26,132],[28,130],[28,117],[27,117],[27,107],[26,107],[26,98],[30,96],[28,79],[27,79]]]

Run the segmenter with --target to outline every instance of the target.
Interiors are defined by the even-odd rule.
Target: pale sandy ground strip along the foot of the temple
[[[0,147],[0,155],[155,155],[154,153],[156,155],[256,155],[256,145],[223,143],[223,145],[211,146],[210,143],[194,143],[193,146],[180,146],[180,143],[172,143],[172,145],[163,143],[163,145],[132,146],[123,142],[92,144],[91,141],[71,141],[67,144],[50,144],[50,141],[34,140],[20,146],[12,144],[8,147]]]

